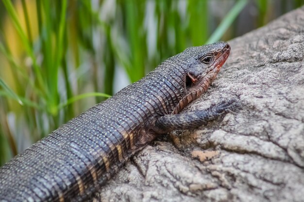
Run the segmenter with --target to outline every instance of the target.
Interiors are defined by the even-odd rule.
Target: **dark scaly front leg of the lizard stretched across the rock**
[[[230,110],[236,109],[239,104],[236,100],[222,102],[208,109],[190,111],[180,114],[165,115],[155,122],[155,132],[158,134],[168,133],[173,130],[188,130],[206,124]]]

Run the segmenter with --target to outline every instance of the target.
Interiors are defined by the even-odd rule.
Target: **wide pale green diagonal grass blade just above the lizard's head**
[[[213,32],[213,34],[209,37],[206,44],[212,44],[220,40],[225,31],[229,28],[229,26],[236,19],[236,16],[243,10],[243,8],[247,5],[248,0],[238,0],[233,8],[228,12],[228,14],[223,18],[220,25]]]

